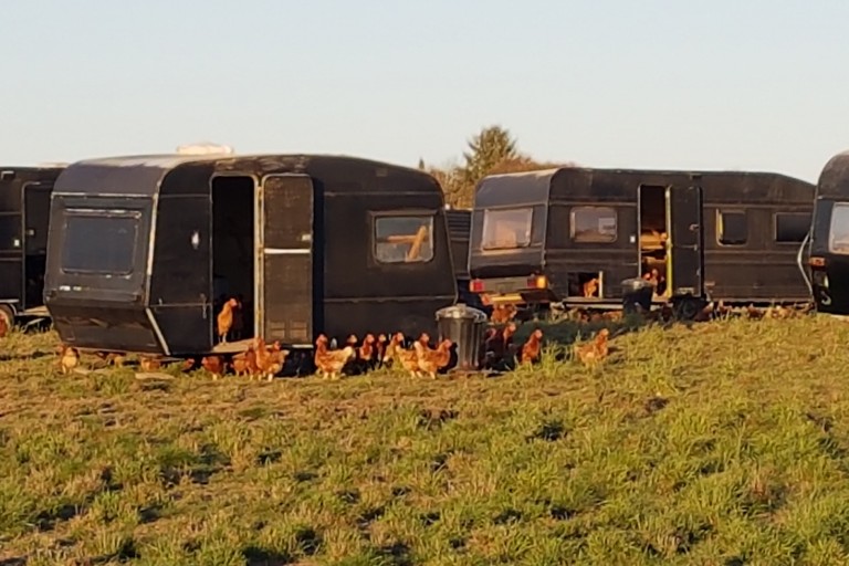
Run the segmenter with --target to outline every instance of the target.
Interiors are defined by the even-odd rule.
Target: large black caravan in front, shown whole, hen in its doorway
[[[51,217],[46,305],[82,348],[210,352],[228,297],[244,305],[243,340],[418,335],[457,296],[438,182],[377,161],[81,161],[57,179]]]

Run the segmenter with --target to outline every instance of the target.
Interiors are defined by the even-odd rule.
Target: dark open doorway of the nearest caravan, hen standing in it
[[[255,189],[251,177],[222,176],[212,179],[214,312],[220,313],[229,298],[235,298],[242,305],[241,316],[234,317],[233,328],[228,335],[230,342],[253,336]]]

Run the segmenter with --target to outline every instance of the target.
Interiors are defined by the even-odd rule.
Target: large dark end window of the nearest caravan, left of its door
[[[128,275],[136,254],[139,212],[65,213],[62,271]]]

